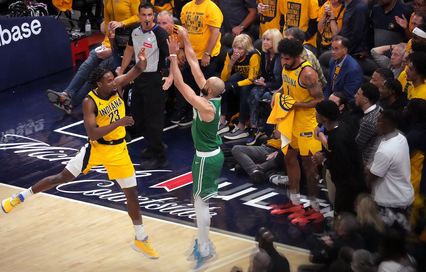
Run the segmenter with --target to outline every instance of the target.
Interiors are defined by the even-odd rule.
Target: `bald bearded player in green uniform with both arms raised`
[[[196,149],[192,164],[194,207],[197,216],[198,239],[195,241],[193,253],[188,261],[197,260],[195,269],[201,269],[203,264],[215,260],[216,254],[213,243],[209,240],[210,211],[208,200],[217,195],[219,175],[222,169],[224,155],[220,149],[222,139],[217,134],[220,119],[220,94],[225,90],[225,83],[219,77],[205,80],[201,72],[196,54],[188,38],[187,30],[178,29],[180,39],[186,45],[185,53],[191,66],[194,78],[201,89],[201,95],[184,83],[178,67],[176,53],[179,51],[177,38],[169,37],[169,52],[175,86],[185,99],[193,106],[192,137]]]

